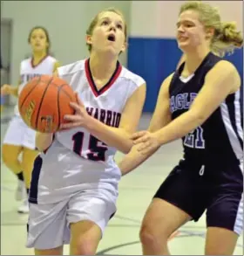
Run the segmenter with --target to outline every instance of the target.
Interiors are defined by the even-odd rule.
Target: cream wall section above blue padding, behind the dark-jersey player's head
[[[132,37],[175,38],[180,6],[186,1],[132,1]],[[242,1],[202,1],[220,10],[222,21],[235,21],[243,31]]]

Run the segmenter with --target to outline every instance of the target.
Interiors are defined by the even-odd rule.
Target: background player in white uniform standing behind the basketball
[[[29,80],[42,74],[52,74],[59,66],[57,59],[49,55],[51,42],[48,31],[44,27],[32,28],[28,43],[32,48],[32,57],[24,59],[20,64],[18,86],[3,85],[1,94],[18,96]],[[38,154],[35,137],[36,132],[25,125],[16,106],[14,117],[10,121],[3,140],[2,154],[3,163],[18,177],[16,199],[24,199],[24,203],[17,210],[19,213],[29,212],[26,193],[29,193],[31,170]]]

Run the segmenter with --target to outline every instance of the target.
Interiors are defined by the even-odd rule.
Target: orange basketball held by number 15
[[[18,98],[19,113],[32,129],[42,133],[58,131],[64,114],[74,114],[71,101],[77,101],[66,81],[49,75],[30,80]]]

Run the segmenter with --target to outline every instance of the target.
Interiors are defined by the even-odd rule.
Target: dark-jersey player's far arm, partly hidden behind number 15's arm
[[[148,131],[156,132],[160,128],[165,127],[171,121],[170,113],[170,100],[169,100],[169,85],[172,80],[173,74],[168,76],[162,83],[159,91],[157,104],[153,113],[153,118],[150,122]],[[158,148],[150,150],[147,154],[140,154],[138,149],[139,145],[134,145],[129,154],[127,154],[121,162],[119,162],[119,169],[122,175],[129,173],[130,171],[137,168],[141,163],[144,163],[146,159],[155,153]]]

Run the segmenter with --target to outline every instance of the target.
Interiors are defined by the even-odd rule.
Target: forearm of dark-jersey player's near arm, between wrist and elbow
[[[166,127],[159,129],[155,134],[159,139],[159,144],[164,145],[184,137],[203,122],[204,120],[198,114],[187,111],[171,121]]]

